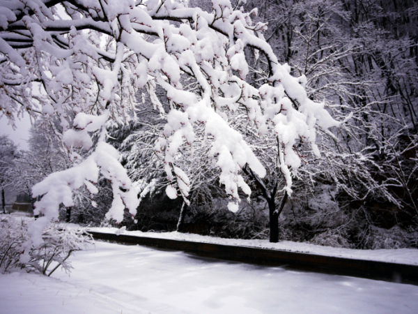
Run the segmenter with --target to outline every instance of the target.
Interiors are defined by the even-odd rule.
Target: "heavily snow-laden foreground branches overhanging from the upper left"
[[[170,110],[155,150],[164,159],[168,179],[180,189],[169,185],[170,197],[188,195],[189,179],[176,167],[176,155],[181,144],[194,141],[196,124],[205,125],[210,154],[221,170],[219,182],[233,199],[239,200],[238,188],[251,193],[240,175],[242,167],[248,164],[260,177],[265,175],[224,114],[240,106],[259,135],[268,130],[267,124],[274,125],[279,167],[290,195],[290,168],[300,166],[295,144],[310,142],[319,154],[315,126],[339,123],[323,103],[307,98],[304,76],[292,77],[291,68],[279,64],[263,38],[267,25],[251,22],[256,14],[235,10],[229,0],[212,0],[212,13],[171,0],[0,0],[1,114],[14,119],[28,111],[44,119],[58,118],[73,160],[79,156],[72,148],[91,149],[88,134],[102,129],[101,142],[86,160],[33,188],[34,196],[44,195],[37,210],[53,218],[60,202],[71,206],[70,190],[81,184],[89,188],[99,170],[120,195],[109,217],[120,219],[117,211],[135,206],[121,194],[130,193],[130,182],[104,143],[102,126],[107,119],[131,119],[138,89],[146,89],[155,109],[164,113],[157,85],[166,91]],[[268,63],[269,77],[261,86],[246,81],[247,47]],[[183,86],[185,80],[193,80],[196,88]],[[61,187],[54,182],[61,182]],[[94,186],[90,188],[94,193]]]

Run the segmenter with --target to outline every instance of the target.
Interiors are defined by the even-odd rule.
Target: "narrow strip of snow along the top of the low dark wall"
[[[141,232],[123,231],[114,227],[91,227],[94,232],[110,234],[129,234],[137,237],[150,237],[158,239],[171,239],[178,241],[193,241],[212,244],[223,244],[228,246],[247,246],[251,248],[268,248],[279,251],[295,253],[308,253],[332,257],[344,257],[354,260],[374,260],[378,262],[392,262],[397,264],[418,265],[418,250],[415,248],[379,249],[379,250],[355,250],[351,248],[332,248],[330,246],[318,246],[292,241],[281,241],[270,243],[268,240],[242,240],[222,239],[216,237],[201,236],[180,232]]]

